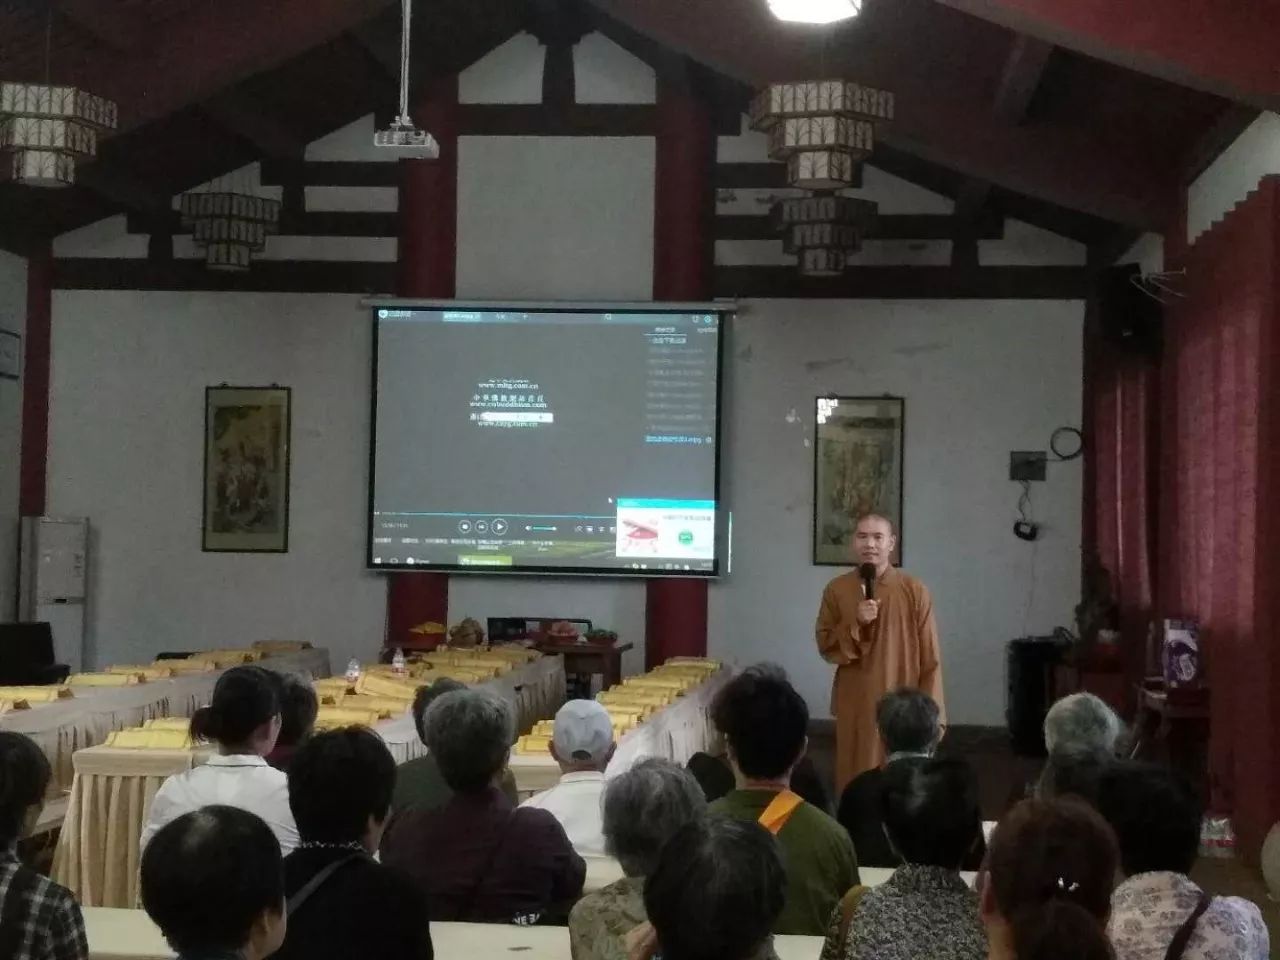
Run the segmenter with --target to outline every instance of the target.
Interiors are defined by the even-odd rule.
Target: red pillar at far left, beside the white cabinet
[[[49,358],[52,348],[54,256],[49,247],[27,261],[27,339],[22,380],[22,448],[18,513],[45,513],[49,474]]]

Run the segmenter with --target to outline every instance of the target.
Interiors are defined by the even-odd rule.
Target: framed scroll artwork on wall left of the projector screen
[[[205,390],[204,549],[288,553],[288,387]]]

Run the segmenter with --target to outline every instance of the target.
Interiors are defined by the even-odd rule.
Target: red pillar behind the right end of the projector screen
[[[685,82],[659,79],[654,157],[653,298],[712,294],[716,137],[710,111]],[[660,579],[645,595],[645,662],[707,653],[707,581]]]

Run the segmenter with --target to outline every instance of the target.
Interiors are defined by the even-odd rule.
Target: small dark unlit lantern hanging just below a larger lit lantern
[[[877,211],[868,200],[828,193],[781,200],[769,215],[782,233],[782,248],[796,257],[801,274],[836,276],[861,250]]]

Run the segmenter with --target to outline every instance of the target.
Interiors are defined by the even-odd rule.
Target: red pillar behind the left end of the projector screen
[[[458,81],[426,91],[415,119],[440,145],[438,160],[399,161],[397,293],[448,300],[456,294],[458,248]],[[421,645],[410,628],[447,623],[448,573],[392,573],[387,579],[387,645]]]

